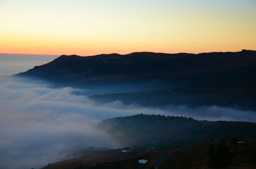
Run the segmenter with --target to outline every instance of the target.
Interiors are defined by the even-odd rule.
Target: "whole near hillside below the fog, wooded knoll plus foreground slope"
[[[211,167],[209,149],[220,145],[224,145],[224,150],[227,149],[228,156],[232,157],[222,168],[255,168],[255,123],[196,121],[186,117],[140,114],[107,119],[100,122],[99,128],[129,147],[81,150],[79,158],[49,164],[44,168],[142,169],[151,168],[161,158],[164,160],[158,163],[157,168],[207,168]],[[147,159],[147,163],[138,163],[140,159]]]

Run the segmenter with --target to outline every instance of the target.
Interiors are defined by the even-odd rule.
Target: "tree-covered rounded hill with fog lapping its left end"
[[[212,138],[255,138],[251,122],[197,121],[186,117],[133,115],[100,122],[99,128],[124,145],[163,145]]]

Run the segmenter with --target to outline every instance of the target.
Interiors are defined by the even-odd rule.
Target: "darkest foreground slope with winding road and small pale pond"
[[[196,169],[211,168],[209,166],[209,147],[217,147],[225,142],[228,152],[232,156],[230,164],[221,168],[255,168],[255,148],[256,140],[253,138],[243,139],[245,143],[233,142],[233,140],[205,140],[195,143],[184,149],[174,147],[165,151],[156,149],[132,147],[125,148],[128,151],[122,152],[122,149],[107,151],[91,151],[83,154],[81,158],[60,161],[55,164],[47,165],[44,169],[145,169],[154,168],[154,162],[170,154],[161,161],[157,168],[178,168],[178,169]],[[147,163],[138,163],[139,159],[147,159]],[[216,167],[219,168],[219,167]]]

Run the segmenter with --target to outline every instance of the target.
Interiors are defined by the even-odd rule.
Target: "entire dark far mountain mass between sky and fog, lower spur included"
[[[17,76],[41,78],[57,86],[107,86],[108,94],[90,97],[102,103],[120,100],[153,107],[217,105],[256,110],[254,50],[202,54],[136,52],[89,57],[61,55]],[[118,87],[121,89],[116,94]],[[136,87],[135,92],[129,90]]]

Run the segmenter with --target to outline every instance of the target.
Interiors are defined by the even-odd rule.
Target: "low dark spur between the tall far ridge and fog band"
[[[239,92],[239,93],[237,93]],[[238,110],[256,111],[256,94],[253,91],[241,92],[235,89],[205,89],[202,87],[180,87],[150,91],[94,94],[89,96],[98,103],[122,101],[126,105],[136,103],[143,107],[167,107],[186,105],[194,108],[201,106],[232,107]]]

